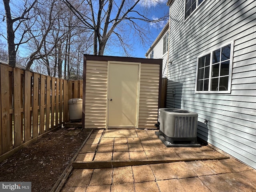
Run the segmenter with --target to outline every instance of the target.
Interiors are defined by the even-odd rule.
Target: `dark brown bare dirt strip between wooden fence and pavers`
[[[80,131],[77,129],[76,131]],[[32,182],[32,192],[49,192],[91,130],[67,135],[61,128],[0,162],[0,181]]]

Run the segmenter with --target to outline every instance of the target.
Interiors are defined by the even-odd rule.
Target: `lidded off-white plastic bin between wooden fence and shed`
[[[68,113],[70,121],[82,119],[82,106],[83,100],[80,98],[72,98],[68,100]]]

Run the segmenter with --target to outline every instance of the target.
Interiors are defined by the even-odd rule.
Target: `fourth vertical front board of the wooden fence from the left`
[[[38,96],[40,75],[34,73],[33,81],[33,138],[38,136]]]

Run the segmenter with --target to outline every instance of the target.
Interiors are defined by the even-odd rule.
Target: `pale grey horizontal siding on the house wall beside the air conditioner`
[[[198,113],[198,136],[256,168],[256,1],[205,0],[184,21],[170,7],[167,107]],[[196,94],[197,57],[233,43],[230,94]],[[175,94],[173,94],[175,90]],[[204,124],[208,120],[208,125]]]

